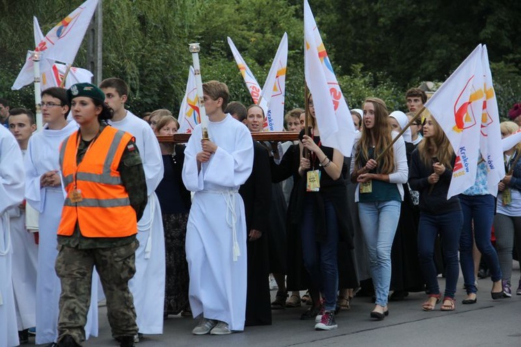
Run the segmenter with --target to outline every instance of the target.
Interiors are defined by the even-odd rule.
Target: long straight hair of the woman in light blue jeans
[[[374,144],[374,156],[376,157],[385,150],[392,142],[389,113],[387,111],[386,103],[378,97],[368,97],[364,104],[370,102],[374,106],[374,126],[371,129],[365,127],[365,122],[362,122],[363,130],[360,140],[358,140],[358,152],[355,156],[355,163],[358,168],[363,166],[363,160],[369,160],[369,148],[371,147],[371,134],[377,142]],[[389,174],[395,170],[395,150],[390,147],[389,150],[383,154],[378,163],[379,172]]]

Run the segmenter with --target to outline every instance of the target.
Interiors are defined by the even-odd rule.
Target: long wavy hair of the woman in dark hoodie
[[[445,168],[452,170],[452,157],[454,156],[454,150],[450,144],[449,138],[441,129],[440,124],[436,122],[436,119],[426,110],[424,111],[425,121],[431,120],[433,128],[436,129],[436,135],[423,138],[418,145],[418,152],[420,153],[420,159],[426,166],[432,165],[433,157],[437,158],[437,161]]]

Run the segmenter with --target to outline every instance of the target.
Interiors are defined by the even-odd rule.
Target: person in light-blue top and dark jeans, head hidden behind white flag
[[[463,210],[463,229],[459,241],[460,264],[465,280],[467,298],[464,304],[477,302],[477,287],[474,277],[474,260],[472,259],[472,241],[481,252],[490,269],[490,279],[493,282],[491,296],[493,300],[504,298],[502,287],[502,273],[499,268],[499,259],[492,243],[492,224],[495,213],[495,197],[487,188],[487,166],[483,159],[479,159],[476,181],[473,186],[459,195]]]

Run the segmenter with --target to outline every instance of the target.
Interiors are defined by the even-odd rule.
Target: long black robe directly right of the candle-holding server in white
[[[254,166],[239,194],[245,204],[246,230],[262,232],[256,241],[247,241],[247,291],[245,325],[271,325],[270,258],[268,220],[272,193],[270,161],[265,148],[254,142]]]

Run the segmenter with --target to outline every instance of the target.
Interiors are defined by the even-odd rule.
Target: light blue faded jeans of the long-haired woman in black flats
[[[387,306],[391,277],[390,251],[395,239],[402,203],[399,201],[358,202],[369,264],[377,296],[375,302]]]

